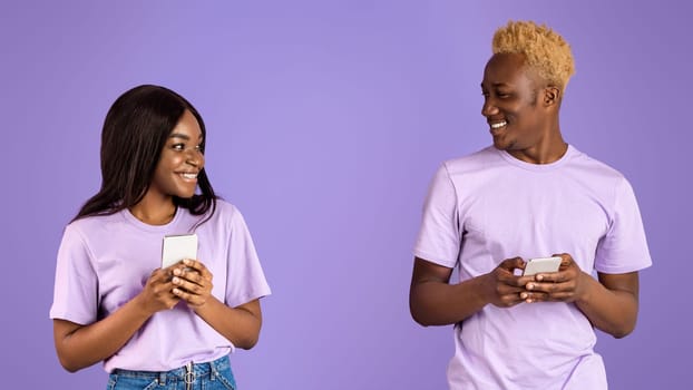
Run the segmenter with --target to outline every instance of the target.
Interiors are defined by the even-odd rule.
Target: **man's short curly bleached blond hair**
[[[510,20],[494,33],[492,51],[525,55],[526,64],[562,94],[575,74],[570,46],[546,25]]]

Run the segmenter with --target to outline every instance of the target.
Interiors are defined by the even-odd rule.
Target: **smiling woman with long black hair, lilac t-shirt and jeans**
[[[205,142],[197,110],[164,87],[108,111],[101,188],[58,252],[50,318],[66,370],[104,361],[109,389],[235,389],[227,355],[257,342],[270,287],[243,216],[212,189]],[[163,237],[187,233],[197,259],[160,269]]]

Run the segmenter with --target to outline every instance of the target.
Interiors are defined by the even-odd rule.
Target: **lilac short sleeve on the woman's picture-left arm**
[[[50,318],[86,325],[97,316],[98,276],[78,228],[68,225],[58,250]]]

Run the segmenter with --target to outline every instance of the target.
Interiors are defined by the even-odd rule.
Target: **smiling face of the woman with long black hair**
[[[189,198],[195,195],[197,174],[205,165],[202,142],[197,119],[185,110],[166,139],[148,192],[163,197]]]

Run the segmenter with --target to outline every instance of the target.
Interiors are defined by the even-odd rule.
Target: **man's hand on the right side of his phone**
[[[586,293],[588,283],[585,283],[585,277],[592,276],[584,273],[569,254],[554,256],[563,259],[560,269],[558,272],[539,273],[527,282],[526,291],[520,293],[526,302],[575,302]]]

